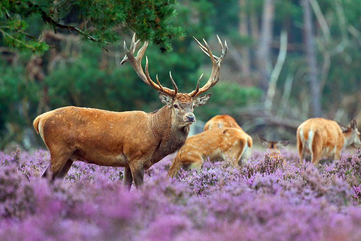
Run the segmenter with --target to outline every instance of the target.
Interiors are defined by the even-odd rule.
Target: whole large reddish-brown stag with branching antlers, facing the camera
[[[40,133],[51,157],[43,176],[51,171],[52,180],[63,178],[73,161],[81,160],[102,166],[124,167],[124,185],[130,190],[134,180],[135,187],[139,189],[143,183],[143,170],[184,144],[189,125],[195,122],[194,106],[205,104],[211,96],[199,95],[219,81],[221,64],[228,48],[226,42],[224,48],[217,38],[221,57],[212,54],[204,39],[205,46],[194,38],[213,66],[207,83],[199,88],[201,75],[196,89],[188,94],[178,92],[171,74],[174,90],[163,87],[158,76],[157,84],[154,83],[148,73],[147,58],[143,72],[141,59],[148,41],[144,42],[136,56],[134,52],[139,40],[135,42],[135,35],[129,50],[124,42],[126,56],[121,64],[128,61],[145,84],[159,91],[159,98],[165,106],[151,113],[67,106],[38,116],[34,120],[34,128]]]

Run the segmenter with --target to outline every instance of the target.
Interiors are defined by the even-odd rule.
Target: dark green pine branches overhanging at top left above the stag
[[[176,0],[1,0],[0,41],[17,49],[44,52],[42,25],[56,32],[70,31],[102,48],[119,40],[117,28],[131,29],[162,51],[172,38],[184,35],[172,24]],[[38,37],[40,36],[40,38]]]

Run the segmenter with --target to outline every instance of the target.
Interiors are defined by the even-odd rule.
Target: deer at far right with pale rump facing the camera
[[[318,164],[322,156],[340,159],[341,149],[346,146],[361,147],[360,132],[356,120],[349,127],[341,126],[333,120],[311,118],[297,128],[297,149],[300,159],[311,153],[312,163]]]

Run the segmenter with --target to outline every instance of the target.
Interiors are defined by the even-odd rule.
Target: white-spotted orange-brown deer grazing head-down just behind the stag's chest
[[[200,168],[207,158],[229,160],[237,166],[238,160],[250,147],[249,138],[237,128],[214,128],[191,136],[178,151],[168,176],[176,176],[181,166]]]

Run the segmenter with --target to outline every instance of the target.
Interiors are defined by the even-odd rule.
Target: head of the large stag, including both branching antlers
[[[194,38],[194,37],[193,37]],[[196,38],[199,48],[211,59],[212,61],[212,72],[207,81],[207,83],[199,88],[199,81],[201,80],[203,74],[199,77],[197,86],[194,91],[190,93],[179,93],[178,87],[175,81],[172,78],[171,72],[169,72],[169,76],[171,78],[171,82],[173,85],[173,90],[168,89],[167,87],[163,87],[159,80],[158,75],[156,76],[156,82],[151,80],[148,72],[148,58],[145,57],[145,73],[141,67],[141,59],[144,55],[145,49],[148,46],[148,41],[145,41],[143,46],[139,49],[136,56],[134,56],[136,45],[139,43],[139,40],[135,42],[135,34],[133,35],[132,44],[128,49],[126,43],[124,42],[124,49],[126,51],[126,55],[123,58],[121,64],[128,61],[135,72],[139,76],[139,78],[147,85],[153,87],[157,91],[159,91],[159,99],[164,104],[167,105],[172,111],[172,121],[180,126],[187,126],[195,122],[195,116],[193,113],[194,106],[201,106],[205,104],[208,99],[211,97],[211,94],[202,95],[202,93],[206,92],[209,88],[214,86],[220,79],[221,75],[221,64],[223,62],[223,58],[226,56],[228,51],[227,44],[225,42],[225,48],[217,35],[218,42],[221,47],[221,56],[217,57],[213,55],[211,48],[208,46],[207,42],[203,39],[203,46]]]

